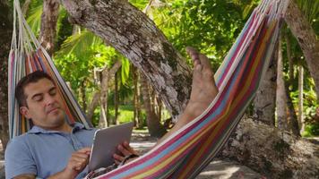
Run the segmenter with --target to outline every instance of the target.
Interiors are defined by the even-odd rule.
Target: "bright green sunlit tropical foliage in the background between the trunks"
[[[211,58],[211,64],[216,70],[232,46],[237,35],[242,30],[249,14],[252,13],[257,0],[131,0],[137,8],[147,11],[149,17],[157,24],[169,41],[185,55],[185,47],[192,46],[201,49]],[[305,13],[316,34],[319,32],[319,1],[298,0],[297,4]],[[39,34],[41,1],[34,0],[27,13],[28,22],[32,30]],[[134,79],[130,71],[129,62],[118,54],[112,47],[108,47],[100,38],[88,30],[74,27],[67,21],[67,13],[61,8],[58,30],[56,35],[56,66],[63,74],[65,81],[69,81],[74,95],[81,104],[89,103],[94,91],[99,90],[96,85],[94,71],[122,61],[119,82],[120,113],[132,116]],[[282,34],[289,38],[290,51],[293,59],[293,72],[289,72],[287,42],[283,41],[284,74],[289,84],[290,97],[297,108],[297,64],[306,69],[305,57],[298,47],[297,40],[292,36],[289,28],[285,27]],[[292,76],[291,76],[292,74]],[[309,72],[305,72],[305,117],[306,135],[318,135],[318,101],[316,100],[315,85]],[[84,86],[82,84],[85,84]],[[114,116],[113,97],[115,83],[110,82],[109,116]],[[85,88],[86,98],[80,98],[81,89]],[[86,100],[86,101],[83,101]],[[131,111],[131,112],[128,112]],[[96,110],[97,116],[99,110]],[[124,117],[125,118],[125,117]]]

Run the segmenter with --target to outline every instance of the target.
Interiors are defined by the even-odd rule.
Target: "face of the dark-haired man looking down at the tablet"
[[[48,79],[31,82],[24,88],[28,107],[20,107],[22,115],[33,124],[56,130],[65,124],[65,106],[56,86]]]

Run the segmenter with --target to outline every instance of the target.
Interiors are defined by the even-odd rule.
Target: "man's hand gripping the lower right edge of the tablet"
[[[131,148],[131,146],[129,145],[129,143],[127,141],[124,141],[122,144],[119,144],[117,146],[118,151],[120,152],[120,154],[114,154],[113,158],[115,159],[116,164],[120,164],[125,157],[131,156],[131,155],[135,155],[138,156],[137,152]],[[130,158],[129,160],[125,161],[129,162],[132,161],[134,158]]]

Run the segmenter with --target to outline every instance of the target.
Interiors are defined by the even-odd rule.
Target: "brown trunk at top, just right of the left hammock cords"
[[[44,0],[43,13],[41,15],[41,30],[39,42],[42,47],[52,55],[55,47],[56,21],[59,13],[60,3],[58,0]]]

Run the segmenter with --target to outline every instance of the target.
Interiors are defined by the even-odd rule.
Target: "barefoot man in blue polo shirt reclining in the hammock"
[[[193,48],[187,51],[194,60],[191,98],[177,124],[158,143],[201,115],[218,92],[207,57]],[[18,83],[16,98],[21,114],[34,126],[10,141],[5,150],[6,178],[82,178],[86,175],[95,129],[66,123],[65,107],[54,81],[43,72],[33,72]],[[127,142],[118,149],[122,155],[114,155],[116,163],[135,153]]]

